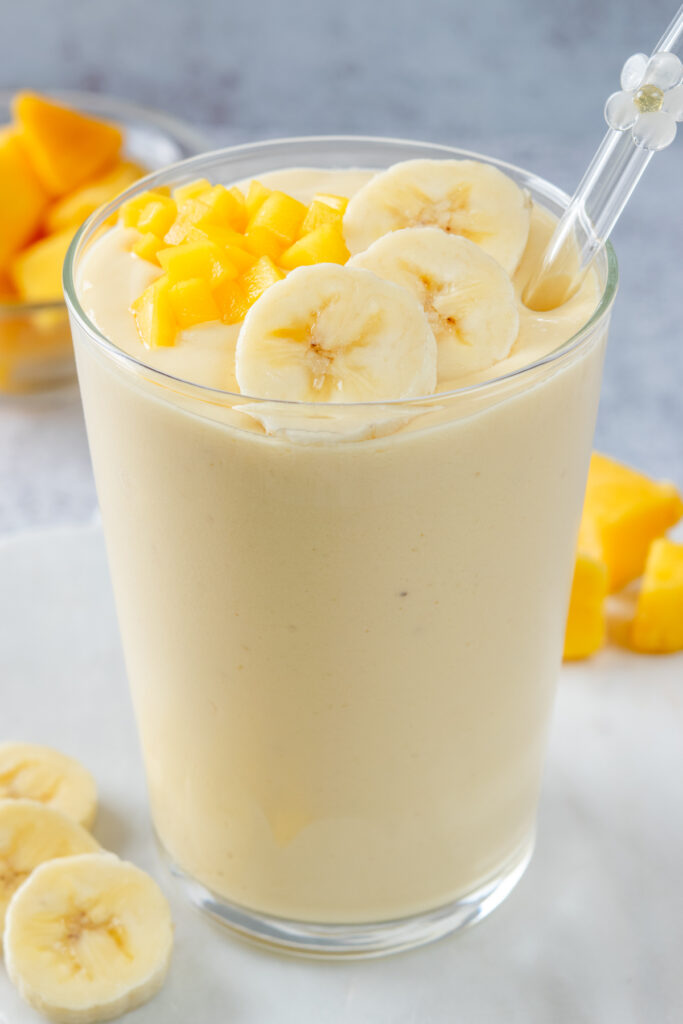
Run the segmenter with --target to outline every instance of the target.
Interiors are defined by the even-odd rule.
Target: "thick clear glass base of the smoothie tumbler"
[[[214,921],[242,938],[279,952],[329,959],[359,959],[401,952],[415,946],[475,925],[495,910],[512,892],[533,851],[529,842],[496,878],[460,899],[410,918],[397,918],[378,924],[318,925],[288,921],[257,913],[206,889],[184,873],[160,844],[171,873],[180,883],[189,900]]]

